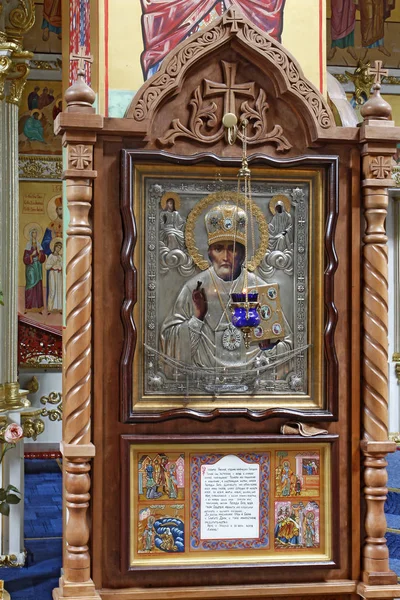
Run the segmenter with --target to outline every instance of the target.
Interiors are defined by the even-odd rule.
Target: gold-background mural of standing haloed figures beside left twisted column
[[[62,185],[20,182],[18,313],[62,326]]]

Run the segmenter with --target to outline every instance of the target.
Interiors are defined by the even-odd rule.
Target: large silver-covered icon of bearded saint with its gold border
[[[135,328],[128,327],[123,355],[123,401],[133,419],[182,407],[334,410],[325,386],[335,377],[332,343],[325,382],[315,376],[335,319],[333,310],[324,316],[324,304],[333,307],[324,268],[334,266],[334,254],[324,266],[324,236],[333,246],[321,172],[254,168],[250,212],[236,175],[146,165],[128,175],[125,249],[136,228],[143,232],[134,250]],[[130,267],[129,259],[128,293]],[[243,290],[259,304],[247,338],[233,316]],[[123,312],[128,306],[129,296]]]

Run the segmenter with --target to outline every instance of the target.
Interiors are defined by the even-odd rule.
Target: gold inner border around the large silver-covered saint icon
[[[237,169],[224,167],[222,179],[232,181],[237,178]],[[132,168],[132,210],[137,223],[142,231],[146,227],[146,210],[144,189],[147,177],[158,177],[160,179],[170,177],[187,177],[188,179],[202,178],[215,181],[215,169],[209,166],[192,165],[190,170],[182,165],[155,165],[143,164],[137,162]],[[253,167],[252,177],[254,181],[285,181],[295,180],[302,183],[307,182],[310,186],[310,265],[313,265],[310,276],[312,280],[313,293],[308,295],[308,331],[309,341],[311,343],[311,352],[309,353],[308,369],[313,376],[309,381],[309,392],[304,396],[297,395],[257,395],[225,397],[219,396],[216,400],[209,394],[193,396],[190,398],[190,408],[192,410],[215,410],[232,409],[245,406],[249,410],[268,410],[276,409],[297,409],[322,410],[326,405],[324,396],[324,198],[326,188],[322,176],[322,168],[288,168],[276,169],[273,167]],[[133,308],[133,321],[138,330],[139,343],[133,356],[133,368],[131,381],[132,410],[140,414],[146,411],[165,411],[172,409],[187,408],[188,401],[183,395],[176,395],[166,398],[156,392],[153,395],[144,393],[144,340],[146,331],[144,303],[148,291],[145,287],[144,261],[146,257],[146,247],[144,236],[135,248],[135,262],[138,267],[139,276],[137,278],[137,298]],[[311,267],[310,267],[311,268]],[[312,274],[311,274],[312,273]],[[312,365],[312,367],[311,367]]]

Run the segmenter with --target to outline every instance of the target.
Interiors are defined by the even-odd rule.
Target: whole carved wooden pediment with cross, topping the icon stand
[[[335,127],[331,110],[285,48],[233,6],[177,46],[126,117],[148,147],[222,151],[222,117],[249,121],[249,144],[282,156]],[[238,140],[240,141],[240,140]]]

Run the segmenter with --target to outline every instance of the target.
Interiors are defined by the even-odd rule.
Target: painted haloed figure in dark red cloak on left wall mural
[[[46,255],[38,240],[38,230],[32,228],[24,252],[25,265],[25,312],[43,310],[43,263]]]

